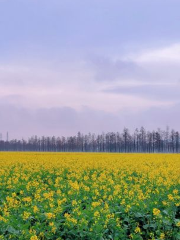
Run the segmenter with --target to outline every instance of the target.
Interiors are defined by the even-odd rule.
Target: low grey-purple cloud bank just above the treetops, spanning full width
[[[130,109],[117,113],[96,111],[84,107],[81,111],[73,108],[18,108],[13,105],[1,105],[0,132],[6,131],[12,138],[28,138],[38,136],[70,136],[78,131],[82,133],[102,133],[122,131],[128,127],[130,131],[144,126],[147,130],[170,126],[180,130],[180,103],[171,107],[152,107],[139,112]]]

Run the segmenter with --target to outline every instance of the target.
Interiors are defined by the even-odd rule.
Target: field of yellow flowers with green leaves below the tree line
[[[0,153],[0,239],[180,239],[180,155]]]

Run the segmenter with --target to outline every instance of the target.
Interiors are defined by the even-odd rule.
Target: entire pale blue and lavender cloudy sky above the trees
[[[180,130],[179,0],[0,0],[3,138]]]

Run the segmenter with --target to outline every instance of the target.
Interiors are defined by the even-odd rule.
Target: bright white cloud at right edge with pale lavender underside
[[[135,62],[143,69],[140,77],[135,76],[142,82],[170,84],[180,78],[180,43],[141,49],[139,52],[127,54],[124,59]]]

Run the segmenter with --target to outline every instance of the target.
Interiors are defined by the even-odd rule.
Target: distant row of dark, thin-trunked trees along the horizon
[[[175,130],[146,131],[141,127],[132,134],[127,128],[119,132],[82,134],[70,137],[37,137],[0,141],[0,151],[37,152],[122,152],[179,153],[180,133]]]

